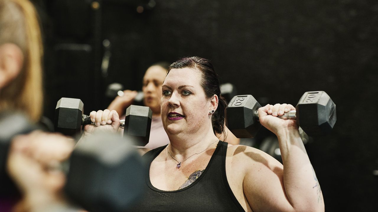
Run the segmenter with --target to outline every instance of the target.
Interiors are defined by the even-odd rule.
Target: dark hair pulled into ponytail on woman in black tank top
[[[172,63],[167,72],[171,69],[192,68],[201,72],[202,80],[201,86],[207,98],[212,98],[213,95],[218,96],[218,108],[212,114],[211,123],[214,134],[225,134],[225,109],[227,106],[226,100],[220,96],[219,80],[214,71],[213,65],[209,60],[200,57],[184,57]]]

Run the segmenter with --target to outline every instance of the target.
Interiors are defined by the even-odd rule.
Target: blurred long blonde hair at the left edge
[[[23,52],[20,74],[0,90],[0,111],[25,112],[33,121],[42,115],[43,46],[36,10],[28,0],[0,0],[0,45],[14,43]]]

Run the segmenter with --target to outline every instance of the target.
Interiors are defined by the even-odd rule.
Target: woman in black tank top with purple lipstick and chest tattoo
[[[147,151],[146,194],[132,211],[324,211],[319,182],[295,120],[277,116],[291,104],[259,108],[260,123],[276,134],[283,164],[253,147],[228,145],[225,101],[208,60],[182,58],[168,69],[161,117],[170,143]],[[110,111],[91,113],[117,125]],[[118,126],[99,128],[118,129]]]

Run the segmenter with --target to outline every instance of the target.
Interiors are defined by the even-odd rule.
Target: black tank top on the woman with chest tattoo
[[[232,193],[226,177],[226,152],[228,143],[219,141],[204,172],[189,186],[173,191],[164,191],[152,186],[150,181],[151,162],[167,146],[147,152],[144,196],[130,211],[244,211]],[[183,182],[184,183],[184,182]]]

